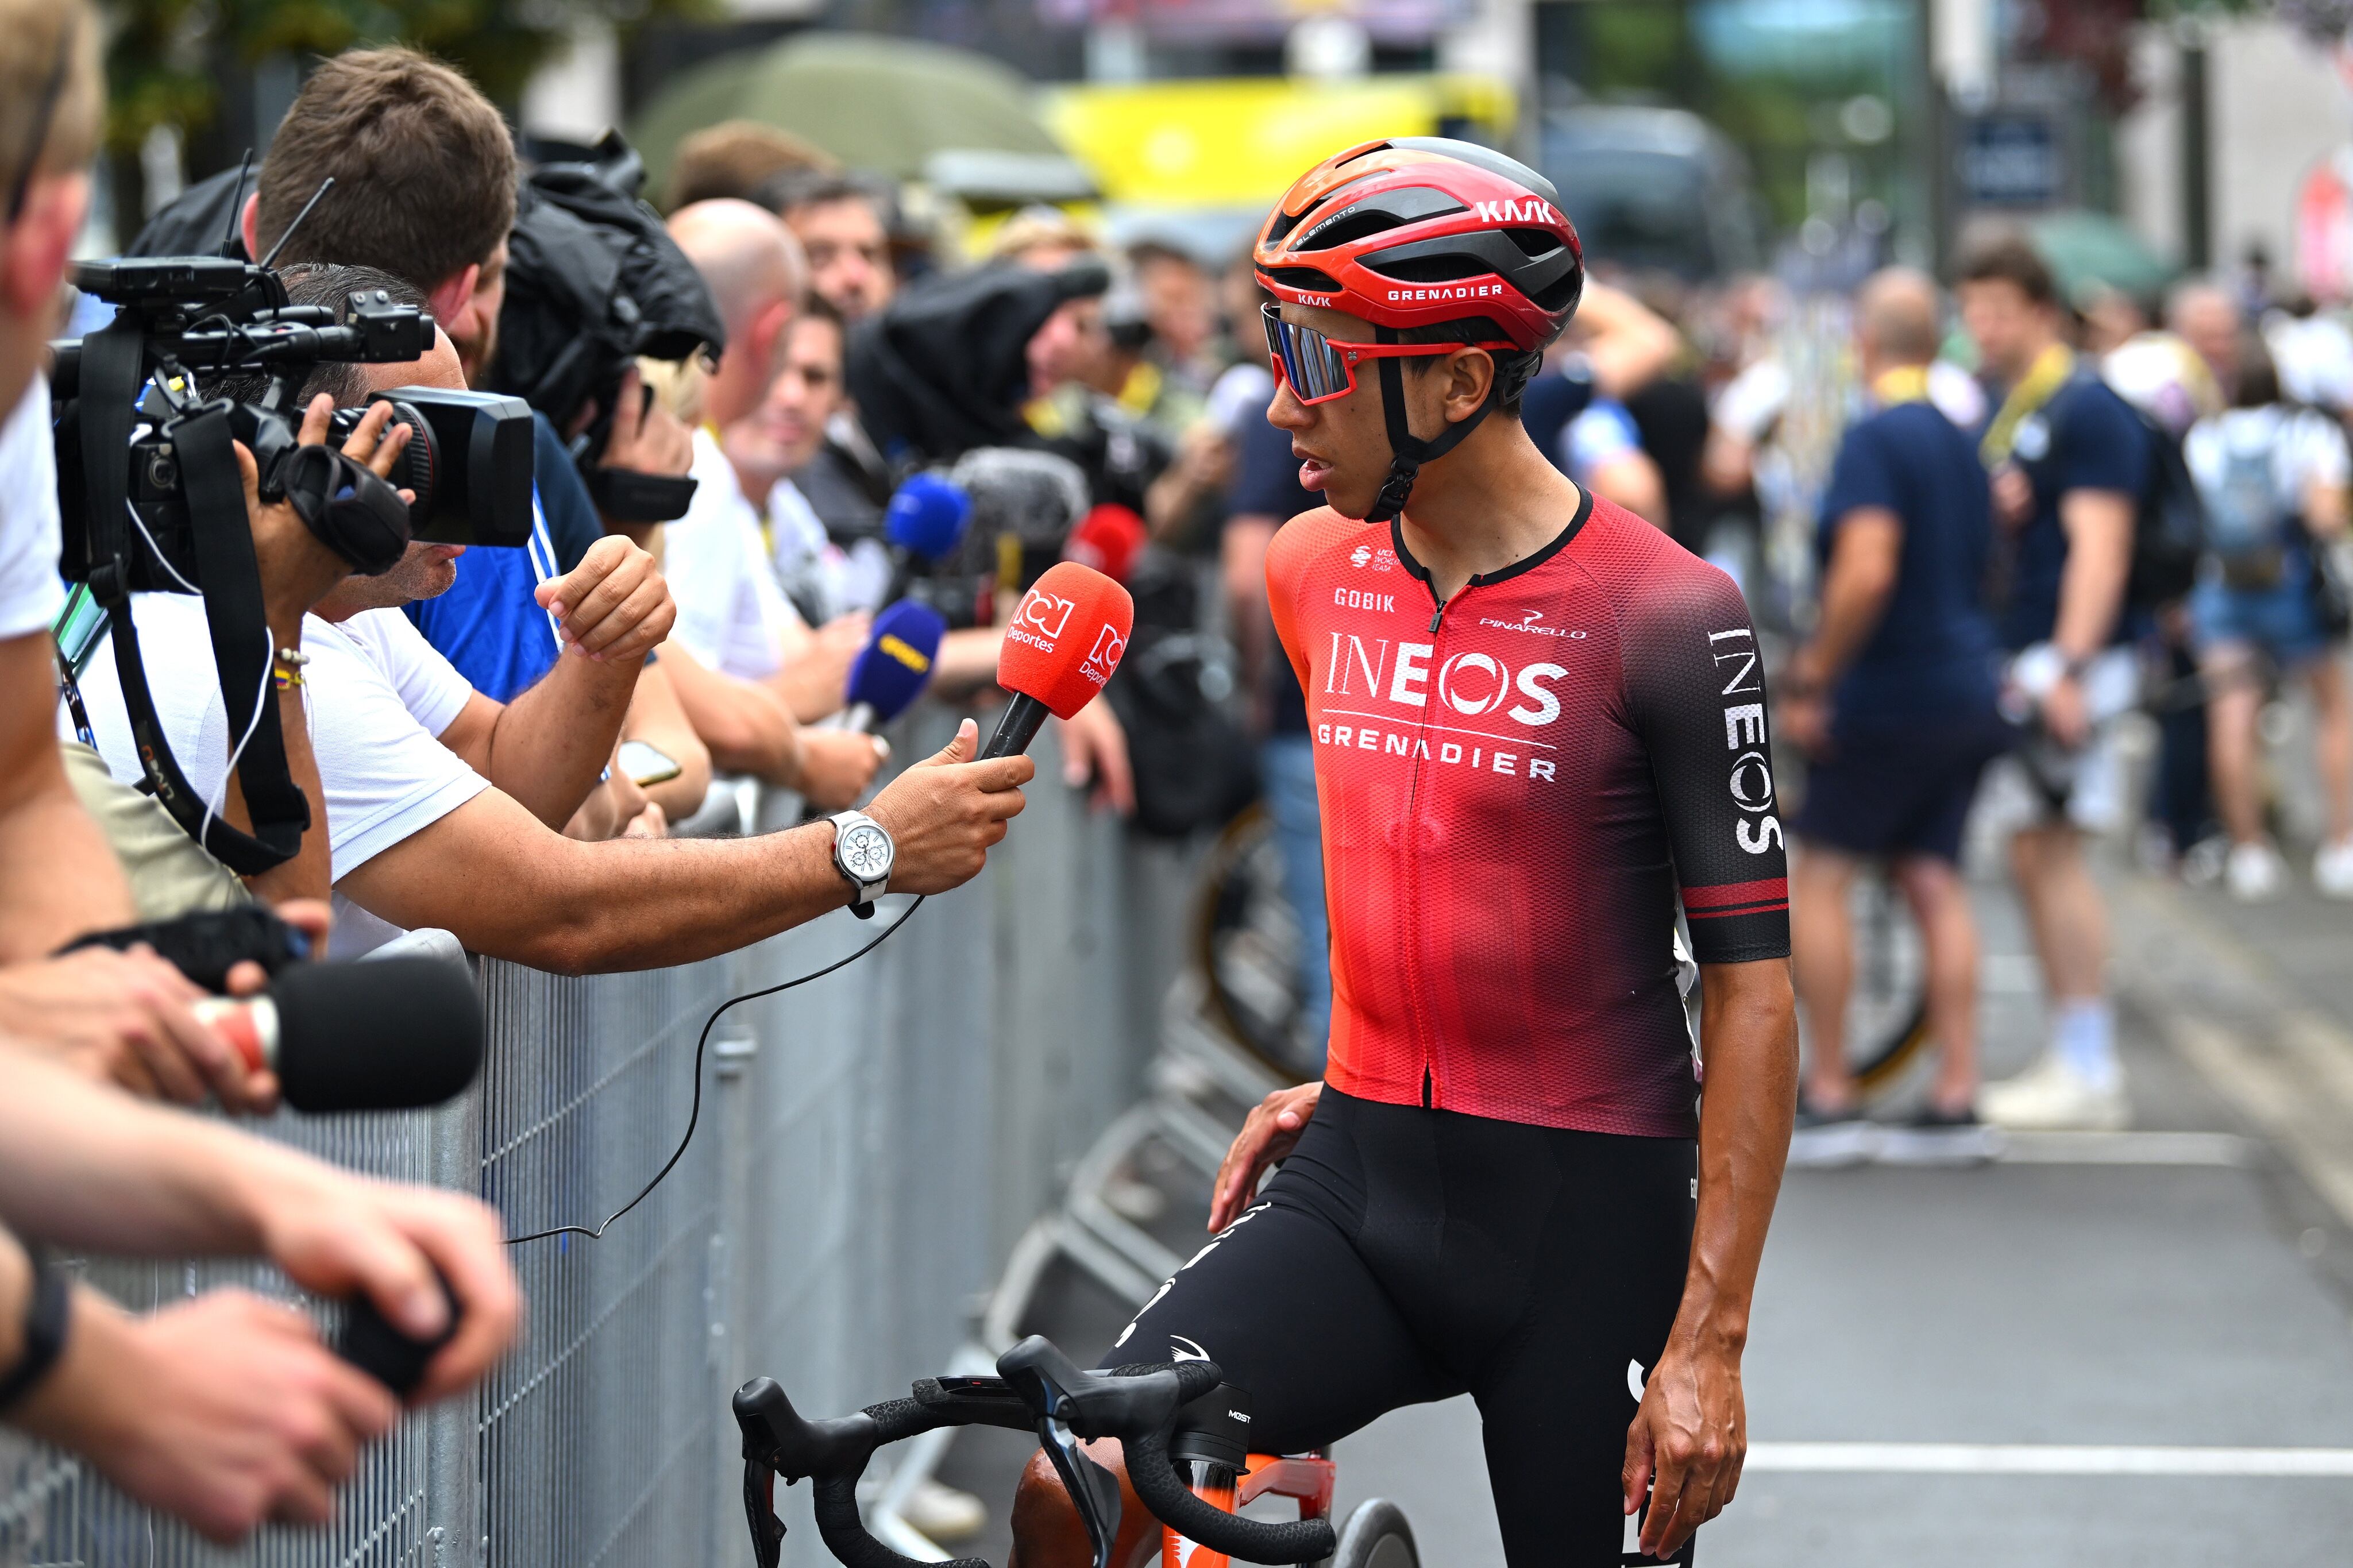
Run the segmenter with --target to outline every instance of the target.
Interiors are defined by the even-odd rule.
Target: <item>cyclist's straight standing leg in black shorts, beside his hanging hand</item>
[[[1626,1530],[1635,1387],[1682,1300],[1699,1157],[1678,1138],[1553,1138],[1560,1187],[1532,1239],[1527,1314],[1471,1392],[1506,1561],[1602,1568]]]

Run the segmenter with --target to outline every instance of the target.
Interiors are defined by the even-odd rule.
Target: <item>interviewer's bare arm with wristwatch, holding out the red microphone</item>
[[[868,806],[899,846],[892,891],[974,877],[1021,811],[1028,757],[967,762],[974,724]],[[466,947],[553,973],[659,969],[748,947],[849,903],[833,825],[755,839],[612,839],[551,832],[496,790],[353,867],[346,898],[395,926],[442,926]]]

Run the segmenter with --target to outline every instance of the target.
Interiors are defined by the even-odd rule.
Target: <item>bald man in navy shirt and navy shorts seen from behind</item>
[[[1847,893],[1885,860],[1927,950],[1937,1081],[1882,1154],[1986,1159],[1977,1119],[1977,922],[1960,830],[1986,762],[2009,736],[1995,710],[1993,621],[1979,583],[1993,552],[1986,473],[1927,400],[1937,284],[1880,273],[1857,303],[1854,346],[1875,411],[1847,430],[1821,501],[1821,621],[1786,672],[1781,733],[1812,757],[1791,886],[1809,1063],[1793,1159],[1871,1152],[1845,1023],[1854,978]]]

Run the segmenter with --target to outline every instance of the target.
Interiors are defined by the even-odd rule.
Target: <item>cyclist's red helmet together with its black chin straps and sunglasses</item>
[[[1346,310],[1372,322],[1374,343],[1334,346],[1266,310],[1266,346],[1301,402],[1355,388],[1355,362],[1379,367],[1388,425],[1388,480],[1367,522],[1405,508],[1421,465],[1445,456],[1527,386],[1537,355],[1560,336],[1586,287],[1586,256],[1553,181],[1492,148],[1442,136],[1393,136],[1337,153],[1282,195],[1252,252],[1259,284],[1280,301]],[[1442,322],[1487,322],[1501,336],[1471,348],[1518,350],[1497,364],[1487,402],[1433,440],[1405,421],[1398,334]],[[1449,353],[1433,343],[1426,353]]]

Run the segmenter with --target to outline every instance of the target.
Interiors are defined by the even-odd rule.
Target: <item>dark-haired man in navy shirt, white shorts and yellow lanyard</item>
[[[2000,388],[1979,440],[2007,536],[1998,632],[2038,733],[1998,776],[2019,823],[2009,865],[2052,1006],[2049,1051],[1988,1084],[1979,1112],[2014,1128],[2115,1128],[2127,1119],[2125,1074],[2085,835],[2118,825],[2122,806],[2108,722],[2137,696],[2134,654],[2118,644],[2151,435],[2061,341],[2049,268],[2024,240],[1967,259],[1960,313]]]

